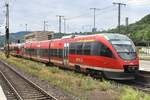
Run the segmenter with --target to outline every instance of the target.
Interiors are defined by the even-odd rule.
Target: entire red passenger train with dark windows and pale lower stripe
[[[139,69],[133,42],[121,34],[69,36],[19,46],[20,56],[81,72],[103,73],[109,79],[134,79]]]

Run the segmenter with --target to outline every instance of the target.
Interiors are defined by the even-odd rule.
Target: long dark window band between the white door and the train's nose
[[[71,43],[69,53],[113,57],[112,51],[100,42]]]

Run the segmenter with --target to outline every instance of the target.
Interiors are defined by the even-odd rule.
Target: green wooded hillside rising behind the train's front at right
[[[118,29],[111,29],[107,32],[118,32]],[[138,43],[148,43],[150,42],[150,14],[128,26],[128,31],[126,26],[121,26],[121,33],[129,35],[133,41]]]

